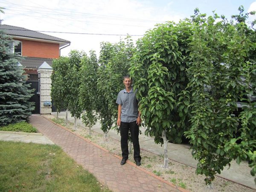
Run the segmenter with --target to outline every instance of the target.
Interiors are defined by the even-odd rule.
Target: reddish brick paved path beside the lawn
[[[179,191],[168,182],[136,167],[134,163],[128,162],[121,166],[120,158],[43,116],[30,116],[30,123],[114,192]]]

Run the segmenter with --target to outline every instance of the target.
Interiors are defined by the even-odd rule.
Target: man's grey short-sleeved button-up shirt
[[[134,122],[139,116],[138,100],[136,98],[137,90],[133,91],[131,88],[130,93],[125,89],[119,91],[116,103],[122,105],[121,108],[121,122]]]

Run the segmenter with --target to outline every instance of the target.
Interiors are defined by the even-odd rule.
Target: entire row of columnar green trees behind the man
[[[99,118],[105,134],[116,122],[116,97],[122,76],[130,73],[138,89],[148,134],[164,145],[185,135],[198,160],[198,174],[211,184],[216,173],[247,160],[256,173],[256,32],[245,21],[223,15],[195,15],[179,23],[158,24],[134,47],[129,38],[102,43],[99,60],[92,51],[72,51],[53,63],[52,99],[58,111],[69,109],[92,127]],[[253,25],[254,23],[252,23]],[[237,113],[237,103],[243,110]],[[96,116],[97,115],[97,116]]]

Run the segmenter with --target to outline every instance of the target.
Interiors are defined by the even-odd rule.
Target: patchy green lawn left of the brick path
[[[110,192],[57,145],[0,141],[0,191]]]

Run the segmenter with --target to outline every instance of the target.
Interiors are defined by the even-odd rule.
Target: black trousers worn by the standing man
[[[141,160],[140,157],[140,143],[139,143],[139,125],[134,122],[121,122],[120,135],[121,135],[121,149],[122,157],[128,159],[128,133],[131,131],[131,140],[134,146],[134,160]]]

